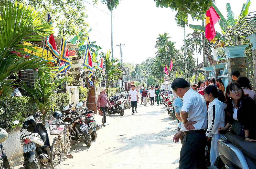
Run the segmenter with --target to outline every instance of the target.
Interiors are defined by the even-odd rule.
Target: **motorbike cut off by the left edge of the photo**
[[[4,112],[5,112],[4,108],[0,109],[0,115],[4,114]],[[5,123],[6,123],[6,121],[3,121],[0,123],[0,125],[3,125]],[[4,129],[0,128],[0,148],[1,148],[1,150],[0,150],[0,154],[1,154],[0,155],[0,169],[10,169],[11,168],[9,165],[9,161],[7,159],[5,150],[4,150],[4,146],[2,144],[2,142],[4,142],[7,138],[8,138],[8,133]]]

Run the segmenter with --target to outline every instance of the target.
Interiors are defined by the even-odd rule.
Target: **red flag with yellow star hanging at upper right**
[[[215,9],[211,6],[209,10],[206,11],[205,16],[205,37],[210,41],[216,36],[216,31],[214,24],[218,22],[220,16],[217,14]]]

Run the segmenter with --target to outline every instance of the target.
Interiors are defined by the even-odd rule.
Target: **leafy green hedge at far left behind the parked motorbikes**
[[[15,120],[24,121],[30,114],[33,113],[32,99],[30,97],[9,97],[0,100],[0,108],[5,109],[5,113],[0,116],[0,121],[6,120],[7,124],[3,128],[13,130],[17,126],[22,127],[22,123],[13,124]]]

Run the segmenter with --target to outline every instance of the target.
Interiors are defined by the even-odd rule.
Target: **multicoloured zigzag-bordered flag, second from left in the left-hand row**
[[[63,30],[64,35],[64,30]],[[71,68],[71,62],[68,54],[68,47],[65,38],[62,38],[60,44],[60,65],[64,63],[64,72],[67,73],[67,69]]]

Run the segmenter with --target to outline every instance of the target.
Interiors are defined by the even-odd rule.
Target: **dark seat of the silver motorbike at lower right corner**
[[[238,147],[244,155],[255,160],[256,153],[255,153],[255,142],[245,141],[244,137],[238,136],[231,132],[225,133],[226,138],[230,141],[231,144]]]

